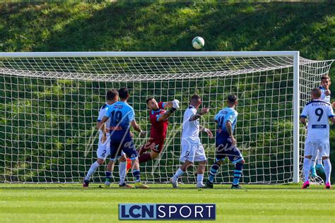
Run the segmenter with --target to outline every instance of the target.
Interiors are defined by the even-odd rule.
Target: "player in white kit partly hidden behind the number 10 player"
[[[98,143],[98,150],[97,150],[97,160],[90,166],[90,169],[88,170],[88,173],[86,174],[84,181],[83,181],[83,187],[88,187],[88,184],[90,182],[90,176],[94,174],[96,169],[100,167],[105,162],[105,159],[110,155],[110,122],[107,121],[103,126],[100,125],[100,121],[102,120],[103,116],[105,116],[106,113],[106,107],[108,107],[111,104],[114,104],[114,102],[117,102],[118,92],[117,90],[109,90],[106,94],[107,97],[107,103],[104,104],[99,111],[98,116],[98,122],[96,124],[96,129],[99,131],[99,143]],[[119,158],[119,177],[120,177],[120,186],[122,187],[131,187],[128,184],[124,183],[124,179],[126,176],[126,156],[122,155],[122,157]],[[110,171],[111,169],[111,162],[107,164],[107,171]],[[106,177],[106,186],[110,185],[110,179]]]

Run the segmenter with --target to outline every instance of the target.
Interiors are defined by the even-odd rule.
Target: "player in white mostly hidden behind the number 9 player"
[[[321,78],[321,85],[319,86],[319,90],[321,90],[321,100],[331,103],[330,96],[331,91],[329,90],[331,85],[330,77],[325,75]],[[335,107],[335,102],[333,103],[333,107]],[[311,160],[310,172],[312,176],[317,176],[317,171],[324,174],[324,166],[322,165],[322,154],[317,153],[317,165],[315,166],[315,160]]]

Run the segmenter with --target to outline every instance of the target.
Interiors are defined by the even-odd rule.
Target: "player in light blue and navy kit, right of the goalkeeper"
[[[238,115],[235,110],[236,105],[236,95],[229,95],[227,107],[219,111],[215,116],[215,121],[218,123],[218,130],[216,131],[216,162],[211,166],[209,171],[208,181],[206,182],[208,188],[213,188],[213,181],[218,173],[218,169],[221,167],[223,159],[228,157],[230,162],[235,164],[234,179],[231,188],[241,189],[239,182],[245,159],[243,159],[242,153],[236,147],[236,139],[233,135]]]

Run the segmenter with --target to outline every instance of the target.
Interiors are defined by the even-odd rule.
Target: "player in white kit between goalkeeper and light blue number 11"
[[[197,113],[196,111],[199,109],[200,104],[201,97],[199,95],[193,95],[189,108],[184,112],[184,119],[182,122],[182,154],[180,157],[180,162],[183,164],[170,179],[173,188],[178,187],[178,178],[182,176],[187,168],[192,166],[194,162],[198,162],[196,187],[206,188],[203,183],[206,155],[204,146],[201,144],[199,138],[199,131],[206,132],[209,138],[213,138],[213,134],[208,128],[199,125],[199,118],[209,111],[208,107],[204,107],[201,109],[200,113]]]

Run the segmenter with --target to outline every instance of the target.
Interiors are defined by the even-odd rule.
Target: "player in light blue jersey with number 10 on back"
[[[133,176],[135,178],[136,188],[148,188],[141,183],[139,159],[133,140],[131,138],[130,126],[143,136],[144,132],[135,121],[134,109],[127,104],[129,99],[129,91],[127,88],[119,90],[119,102],[108,107],[102,123],[110,119],[110,160],[112,161],[112,170],[114,168],[114,160],[121,156],[122,151],[131,159],[133,167]]]

